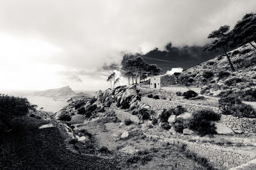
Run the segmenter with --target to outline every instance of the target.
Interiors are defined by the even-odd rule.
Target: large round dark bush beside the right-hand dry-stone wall
[[[191,130],[201,136],[216,134],[216,127],[211,121],[220,120],[219,114],[209,109],[202,109],[193,112],[192,115],[193,118],[189,122],[189,128]]]

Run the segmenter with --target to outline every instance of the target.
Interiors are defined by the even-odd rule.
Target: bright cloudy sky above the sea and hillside
[[[124,52],[204,46],[255,9],[255,0],[1,0],[0,90],[106,89],[104,68]]]

